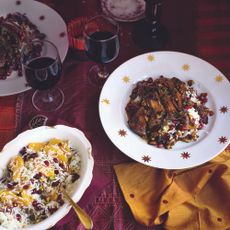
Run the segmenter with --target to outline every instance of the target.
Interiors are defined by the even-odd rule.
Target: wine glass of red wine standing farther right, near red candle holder
[[[105,64],[113,61],[119,53],[119,26],[111,18],[98,15],[89,19],[84,27],[85,50],[95,62],[88,72],[91,83],[102,86],[109,76]]]

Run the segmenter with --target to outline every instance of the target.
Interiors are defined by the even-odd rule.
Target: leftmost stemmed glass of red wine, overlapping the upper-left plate
[[[23,46],[21,61],[28,85],[36,90],[32,96],[33,106],[44,112],[58,110],[64,103],[64,94],[53,87],[62,73],[57,47],[47,40],[33,40]]]

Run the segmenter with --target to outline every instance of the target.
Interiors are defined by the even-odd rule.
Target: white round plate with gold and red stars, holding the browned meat
[[[147,144],[127,124],[125,107],[138,81],[149,77],[193,80],[198,93],[208,94],[206,106],[214,115],[195,142],[177,142],[172,149]],[[230,142],[230,83],[208,62],[179,52],[160,51],[139,55],[120,65],[105,82],[99,101],[100,119],[111,141],[132,159],[163,169],[183,169],[203,164]]]

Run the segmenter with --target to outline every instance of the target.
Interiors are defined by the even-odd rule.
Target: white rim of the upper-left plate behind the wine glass
[[[32,0],[1,0],[0,16],[6,17],[9,13],[19,12],[26,14],[28,19],[35,24],[41,33],[46,34],[46,39],[53,42],[64,61],[68,51],[66,23],[62,17],[52,8],[38,1]],[[18,94],[30,89],[25,77],[18,77],[14,71],[5,80],[0,80],[0,96]]]

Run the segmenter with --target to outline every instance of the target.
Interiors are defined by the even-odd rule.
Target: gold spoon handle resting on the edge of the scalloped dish
[[[92,229],[93,228],[93,221],[91,217],[78,205],[76,204],[72,198],[68,195],[64,188],[62,188],[62,193],[66,200],[72,205],[74,211],[76,212],[79,220],[81,221],[82,225],[85,229]]]

